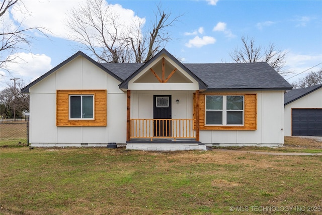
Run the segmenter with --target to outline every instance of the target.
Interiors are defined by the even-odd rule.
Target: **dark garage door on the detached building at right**
[[[292,109],[293,136],[322,136],[322,109]]]

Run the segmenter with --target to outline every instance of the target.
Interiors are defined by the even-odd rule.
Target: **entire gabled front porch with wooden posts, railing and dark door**
[[[199,142],[196,110],[199,90],[207,86],[190,70],[166,54],[125,83],[120,88],[127,91],[127,149],[206,150]]]

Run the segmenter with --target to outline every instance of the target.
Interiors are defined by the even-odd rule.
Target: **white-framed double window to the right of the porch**
[[[206,95],[207,125],[243,125],[244,96]]]

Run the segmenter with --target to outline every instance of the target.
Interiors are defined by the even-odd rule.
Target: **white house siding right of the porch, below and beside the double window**
[[[252,93],[257,93],[257,130],[200,130],[200,141],[208,146],[271,147],[284,144],[284,91]]]

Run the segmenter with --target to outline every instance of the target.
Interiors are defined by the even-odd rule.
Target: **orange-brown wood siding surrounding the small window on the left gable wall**
[[[69,95],[94,95],[94,119],[70,120]],[[106,90],[57,90],[56,126],[106,126]]]

